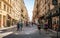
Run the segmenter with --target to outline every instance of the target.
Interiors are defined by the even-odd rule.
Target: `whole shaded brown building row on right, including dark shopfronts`
[[[37,5],[36,5],[37,4]],[[60,1],[59,0],[35,0],[33,20],[48,21],[49,28],[60,28]],[[37,11],[37,12],[36,12]],[[36,18],[37,17],[37,18]],[[36,21],[38,21],[36,20]]]

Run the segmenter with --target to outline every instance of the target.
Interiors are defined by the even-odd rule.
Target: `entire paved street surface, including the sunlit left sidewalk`
[[[36,26],[23,27],[22,31],[16,31],[16,26],[12,26],[0,31],[0,38],[51,38],[54,35],[50,31],[46,33],[44,29],[39,32]]]

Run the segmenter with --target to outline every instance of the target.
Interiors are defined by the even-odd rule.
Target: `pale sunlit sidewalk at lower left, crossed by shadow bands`
[[[10,26],[10,27],[5,27],[5,28],[0,28],[0,38],[7,36],[9,34],[13,33],[13,29],[16,27],[16,25],[14,26]]]

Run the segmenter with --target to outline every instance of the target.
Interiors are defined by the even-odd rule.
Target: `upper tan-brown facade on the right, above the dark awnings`
[[[33,9],[33,20],[38,21],[40,17],[43,17],[47,14],[49,6],[48,0],[35,0],[35,5]]]

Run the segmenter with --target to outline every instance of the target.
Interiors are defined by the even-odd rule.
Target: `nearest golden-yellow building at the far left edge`
[[[12,7],[11,1],[8,0],[0,0],[0,27],[6,26],[6,20],[7,20],[7,13],[10,13],[11,11],[8,10]]]

